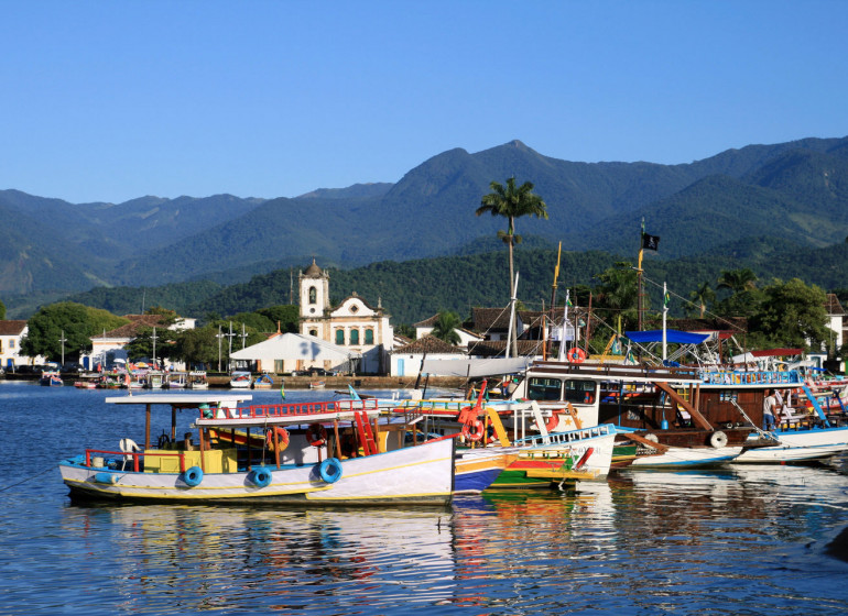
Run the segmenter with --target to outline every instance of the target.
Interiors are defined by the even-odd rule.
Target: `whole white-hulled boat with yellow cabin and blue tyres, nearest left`
[[[107,398],[108,404],[146,408],[143,447],[121,439],[120,451],[88,449],[59,462],[72,498],[118,502],[181,502],[273,506],[387,506],[449,504],[454,487],[454,439],[345,458],[340,422],[355,424],[373,443],[376,405],[354,400],[240,407],[250,396],[205,394]],[[152,442],[151,406],[172,408],[171,430]],[[193,435],[176,441],[176,410],[195,409]],[[298,426],[308,425],[306,431]],[[333,438],[329,437],[329,426]],[[274,443],[243,450],[214,444],[209,429],[259,430]],[[289,431],[291,429],[291,432]],[[335,453],[335,455],[334,455]]]

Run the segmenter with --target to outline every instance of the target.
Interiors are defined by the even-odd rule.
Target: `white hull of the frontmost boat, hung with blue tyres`
[[[324,481],[318,464],[263,466],[268,485],[250,472],[202,473],[195,486],[186,473],[124,472],[86,466],[83,457],[59,463],[73,497],[115,501],[291,505],[448,504],[454,487],[454,442],[435,441],[339,461],[340,477]]]

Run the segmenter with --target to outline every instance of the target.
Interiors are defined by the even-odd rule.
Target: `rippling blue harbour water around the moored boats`
[[[0,382],[0,614],[848,612],[848,563],[824,552],[848,526],[846,461],[623,472],[442,510],[73,506],[59,458],[143,441],[112,395]]]

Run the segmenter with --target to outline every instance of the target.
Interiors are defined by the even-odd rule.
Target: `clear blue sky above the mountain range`
[[[841,0],[4,1],[0,189],[293,197],[513,139],[675,164],[845,136],[846,31]]]

